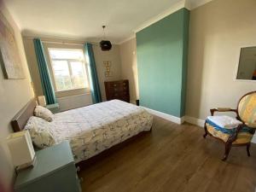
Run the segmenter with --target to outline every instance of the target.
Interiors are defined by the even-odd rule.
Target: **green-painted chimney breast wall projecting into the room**
[[[176,117],[185,114],[189,10],[179,9],[137,32],[140,103]]]

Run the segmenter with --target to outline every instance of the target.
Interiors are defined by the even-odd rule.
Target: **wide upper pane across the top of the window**
[[[79,49],[49,49],[51,59],[84,60],[83,50]]]

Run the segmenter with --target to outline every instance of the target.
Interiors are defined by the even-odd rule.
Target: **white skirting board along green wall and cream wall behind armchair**
[[[143,107],[143,108],[145,108],[145,107]],[[160,118],[172,121],[173,123],[177,123],[179,125],[183,124],[183,122],[185,122],[185,121],[190,124],[193,124],[193,125],[198,125],[200,127],[204,127],[204,125],[205,125],[205,120],[203,120],[203,119],[197,119],[197,118],[190,117],[187,115],[183,116],[182,118],[178,118],[178,117],[172,116],[171,114],[156,111],[151,108],[145,108],[145,109],[148,111],[148,113],[152,113],[156,116],[159,116]],[[256,143],[256,133],[254,134],[252,143]]]

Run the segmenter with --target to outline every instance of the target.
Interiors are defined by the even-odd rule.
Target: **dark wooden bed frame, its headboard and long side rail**
[[[36,106],[37,106],[37,101],[35,98],[33,98],[30,102],[26,104],[24,108],[21,108],[21,110],[15,115],[14,119],[12,119],[11,121],[11,125],[15,132],[23,131],[27,120],[34,115],[34,109],[36,108]],[[140,132],[139,134],[137,134],[137,136],[128,138],[124,142],[118,143],[113,147],[102,151],[102,153],[96,154],[95,156],[90,157],[88,160],[80,161],[79,163],[76,164],[76,166],[84,167],[84,166],[89,166],[91,164],[94,164],[96,161],[101,160],[102,158],[108,156],[109,154],[112,154],[113,151],[116,151],[117,149],[124,147],[127,143],[131,143],[131,141],[134,141],[138,137],[142,137],[143,135],[151,131],[152,131],[152,127],[150,131]]]

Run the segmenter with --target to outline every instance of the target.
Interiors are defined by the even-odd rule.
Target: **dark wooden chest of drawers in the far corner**
[[[129,81],[108,81],[104,82],[107,100],[119,99],[130,102]]]

